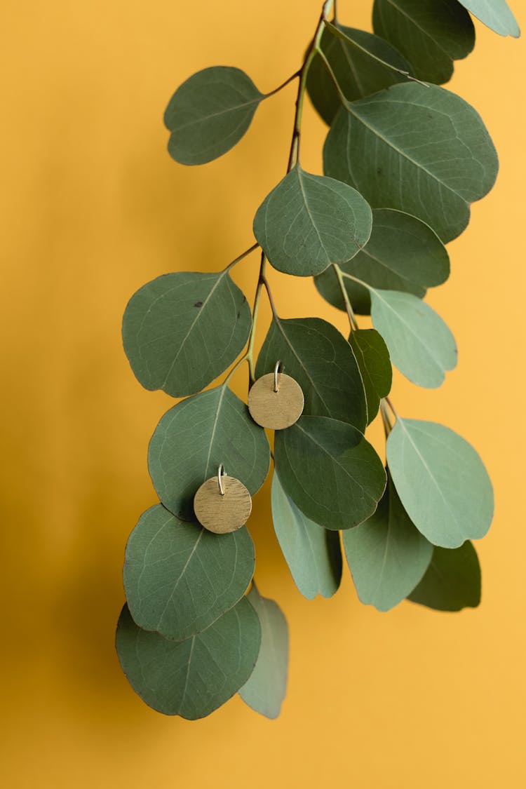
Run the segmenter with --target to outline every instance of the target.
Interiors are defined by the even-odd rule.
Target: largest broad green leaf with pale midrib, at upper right
[[[494,185],[498,159],[479,114],[430,85],[394,85],[341,108],[323,150],[331,178],[359,190],[372,208],[397,208],[451,241],[469,204]]]

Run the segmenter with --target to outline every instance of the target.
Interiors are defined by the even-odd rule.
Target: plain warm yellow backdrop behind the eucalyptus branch
[[[369,27],[371,0],[340,5],[344,22]],[[501,174],[430,296],[460,363],[438,391],[397,376],[393,394],[405,416],[461,432],[490,470],[482,607],[448,615],[405,603],[380,615],[359,604],[347,573],[333,600],[304,600],[278,552],[266,485],[250,528],[259,587],[289,619],[282,716],[267,721],[237,697],[196,723],[161,716],[132,693],[114,653],[125,541],[155,501],[147,441],[170,406],[133,378],[121,314],[147,280],[215,270],[252,244],[252,216],[285,171],[294,88],[203,167],[168,157],[162,111],[207,65],[240,66],[274,88],[300,64],[320,6],[2,2],[6,789],[524,786],[526,58],[520,41],[479,24],[451,86],[487,122]],[[319,171],[322,141],[308,108],[305,167]],[[256,271],[257,256],[236,269],[251,299]],[[271,279],[284,316],[345,329],[310,281]],[[265,307],[262,328],[268,317]],[[243,394],[246,371],[235,387]]]

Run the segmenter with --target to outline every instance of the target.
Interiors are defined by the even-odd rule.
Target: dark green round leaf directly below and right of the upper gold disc
[[[300,417],[276,432],[276,471],[285,493],[311,521],[350,529],[376,509],[386,487],[382,461],[351,424]]]

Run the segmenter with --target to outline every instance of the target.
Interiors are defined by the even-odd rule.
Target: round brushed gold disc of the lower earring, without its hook
[[[226,534],[241,529],[252,511],[252,499],[244,484],[236,477],[221,477],[225,495],[218,488],[218,478],[203,482],[193,500],[196,518],[205,529],[215,534]]]

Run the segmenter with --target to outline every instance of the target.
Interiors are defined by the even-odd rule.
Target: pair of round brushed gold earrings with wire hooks
[[[285,376],[281,361],[276,362],[274,372],[259,378],[248,393],[248,410],[262,428],[289,428],[300,418],[303,408],[300,384]],[[193,504],[200,524],[216,534],[240,529],[252,511],[252,499],[247,488],[236,477],[229,477],[222,464],[218,467],[217,477],[203,482]]]

